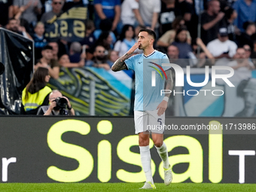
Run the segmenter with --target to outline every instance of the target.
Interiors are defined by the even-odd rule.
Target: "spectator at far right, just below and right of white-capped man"
[[[237,48],[236,55],[234,57],[236,59],[229,62],[227,64],[228,66],[239,71],[248,71],[254,69],[254,64],[248,60],[248,56],[246,56],[245,49],[243,47]]]

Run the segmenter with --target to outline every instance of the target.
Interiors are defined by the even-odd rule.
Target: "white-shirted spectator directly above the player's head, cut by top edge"
[[[139,13],[142,16],[143,23],[151,30],[157,32],[159,27],[158,16],[161,11],[160,0],[139,0]]]

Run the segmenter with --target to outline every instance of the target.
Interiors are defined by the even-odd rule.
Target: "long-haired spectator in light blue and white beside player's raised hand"
[[[114,44],[114,50],[119,56],[123,56],[136,43],[134,39],[134,28],[131,25],[123,26],[119,40]]]

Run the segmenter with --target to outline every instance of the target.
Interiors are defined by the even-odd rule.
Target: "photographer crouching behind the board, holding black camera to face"
[[[38,115],[75,115],[69,99],[62,96],[59,90],[53,90],[50,93],[49,102],[50,105],[44,105],[38,109]]]

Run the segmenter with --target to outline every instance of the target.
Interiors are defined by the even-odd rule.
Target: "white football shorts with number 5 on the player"
[[[163,113],[158,116],[157,111],[134,111],[136,134],[145,131],[163,134],[166,115]]]

